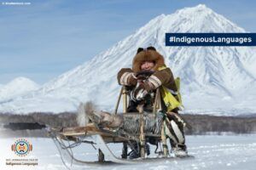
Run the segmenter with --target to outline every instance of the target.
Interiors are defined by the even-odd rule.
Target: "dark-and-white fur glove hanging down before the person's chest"
[[[137,82],[136,88],[131,91],[131,100],[137,102],[144,99],[148,91],[143,87],[143,83]]]

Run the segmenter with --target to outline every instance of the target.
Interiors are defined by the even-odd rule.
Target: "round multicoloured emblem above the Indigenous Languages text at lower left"
[[[26,139],[18,139],[15,141],[15,144],[12,144],[11,149],[17,156],[26,156],[32,151],[32,144]]]

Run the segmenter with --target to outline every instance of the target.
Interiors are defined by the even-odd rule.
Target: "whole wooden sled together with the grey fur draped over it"
[[[54,129],[48,127],[49,136],[54,139],[54,142],[61,154],[62,161],[66,165],[67,160],[72,161],[74,164],[89,164],[97,165],[100,163],[120,163],[131,164],[142,161],[155,161],[155,160],[177,160],[193,158],[188,154],[180,156],[171,156],[167,147],[166,139],[172,138],[174,140],[183,140],[183,133],[178,128],[178,123],[186,124],[181,117],[173,113],[174,119],[177,121],[165,119],[163,114],[157,113],[160,102],[157,101],[160,95],[160,90],[157,89],[154,102],[153,113],[145,113],[140,111],[139,113],[127,113],[127,91],[123,87],[119,94],[119,99],[115,108],[115,113],[109,115],[107,113],[90,114],[90,123],[84,127],[62,127],[61,129]],[[123,96],[123,115],[117,115],[119,101]],[[177,117],[176,117],[177,116]],[[106,118],[107,117],[107,118]],[[116,126],[109,120],[115,120],[119,122],[119,126]],[[128,124],[127,124],[128,123]],[[129,124],[130,123],[130,124]],[[172,128],[172,129],[171,129]],[[175,133],[172,133],[175,132]],[[175,138],[173,137],[175,136]],[[144,146],[146,141],[153,140],[157,146],[161,144],[163,150],[155,153],[157,157],[147,157],[145,147],[140,147],[140,158],[127,159],[127,145],[130,146],[131,141],[136,141],[137,144]],[[73,142],[70,144],[70,142]],[[109,143],[122,143],[124,145],[121,156],[115,156],[113,151],[109,149]],[[79,144],[87,144],[94,148],[98,152],[98,160],[95,161],[82,161],[73,156],[73,147]]]

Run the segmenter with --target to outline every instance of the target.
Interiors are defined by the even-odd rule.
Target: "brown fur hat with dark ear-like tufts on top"
[[[141,71],[141,65],[145,61],[154,62],[154,71],[157,71],[157,69],[160,66],[165,65],[164,57],[161,54],[159,54],[154,47],[148,47],[146,49],[138,48],[137,54],[135,55],[132,61],[132,71]]]

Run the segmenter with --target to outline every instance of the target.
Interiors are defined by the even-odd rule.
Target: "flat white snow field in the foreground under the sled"
[[[15,156],[11,151],[11,144],[16,139],[0,139],[0,169],[67,169],[62,164],[61,156],[55,148],[55,144],[51,139],[42,138],[26,138],[32,143],[33,150],[28,156],[23,158],[37,158],[38,166],[36,167],[9,167],[5,165],[6,159],[20,158]],[[168,161],[152,161],[142,162],[133,165],[99,165],[99,166],[78,166],[72,165],[71,169],[134,169],[134,170],[161,170],[161,169],[245,169],[254,170],[256,167],[256,134],[250,135],[206,135],[206,136],[187,136],[187,145],[189,147],[189,155],[195,156],[194,159],[188,160],[168,160]],[[116,155],[121,153],[120,144],[109,144],[109,147]],[[154,146],[151,145],[151,152],[154,152]],[[86,149],[83,145],[73,150],[74,156],[80,159],[93,160],[96,159],[96,151],[94,149]]]

